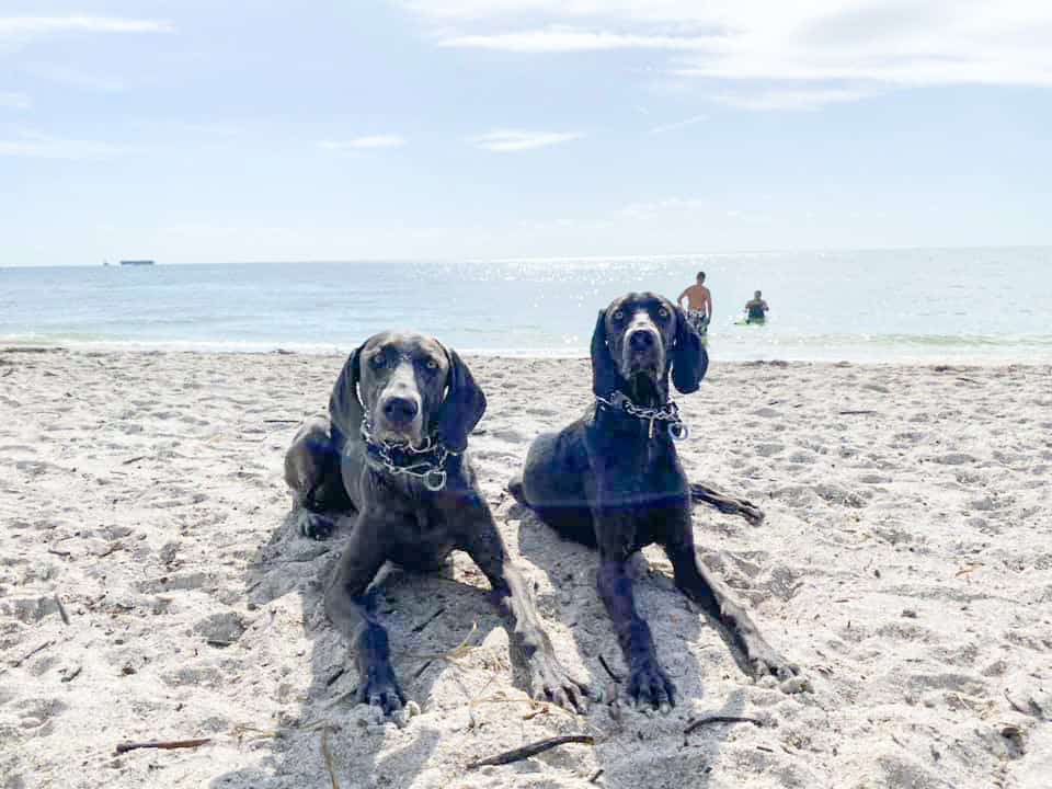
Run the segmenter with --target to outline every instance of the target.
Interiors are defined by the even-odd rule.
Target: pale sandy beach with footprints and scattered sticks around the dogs
[[[587,363],[470,363],[490,399],[471,445],[498,523],[560,658],[610,695],[599,656],[624,664],[595,557],[504,492],[531,437],[585,405]],[[533,708],[458,554],[385,586],[422,710],[399,728],[346,700],[346,648],[319,606],[341,540],[297,536],[281,476],[341,365],[0,352],[0,789],[1052,784],[1048,367],[717,362],[681,399],[690,477],[767,512],[752,527],[697,507],[705,560],[810,691],[745,676],[649,550],[640,605],[679,706]],[[705,714],[762,725],[684,735]],[[596,744],[466,769],[567,733]],[[114,754],[190,737],[213,742]]]

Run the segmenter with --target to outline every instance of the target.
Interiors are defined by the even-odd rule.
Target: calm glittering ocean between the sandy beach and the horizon
[[[391,328],[465,353],[587,354],[596,310],[704,270],[713,359],[1052,362],[1052,248],[498,262],[0,268],[0,343],[347,352]],[[754,290],[767,324],[734,321]]]

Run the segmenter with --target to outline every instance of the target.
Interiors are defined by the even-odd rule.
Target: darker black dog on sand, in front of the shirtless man
[[[727,627],[754,674],[796,671],[695,556],[690,491],[673,443],[686,428],[668,398],[668,376],[686,395],[707,367],[683,310],[650,293],[616,299],[592,336],[595,404],[560,433],[536,438],[522,478],[508,485],[562,535],[598,547],[598,592],[630,671],[629,694],[655,707],[675,704],[675,687],[626,572],[629,557],[653,542],[668,554],[676,585]]]

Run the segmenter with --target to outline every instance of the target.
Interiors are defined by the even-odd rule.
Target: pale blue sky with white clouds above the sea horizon
[[[0,265],[1052,244],[1052,3],[0,0]]]

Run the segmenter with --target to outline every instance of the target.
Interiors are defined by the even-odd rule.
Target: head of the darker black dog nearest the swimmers
[[[638,404],[698,389],[708,367],[701,338],[682,309],[652,293],[631,293],[599,310],[592,334],[592,387],[599,397],[624,391]]]

